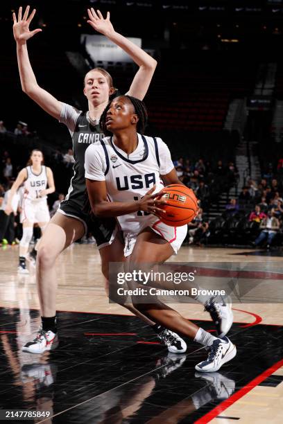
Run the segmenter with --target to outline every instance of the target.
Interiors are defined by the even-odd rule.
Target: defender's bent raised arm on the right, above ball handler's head
[[[110,21],[110,12],[107,12],[106,19],[103,18],[99,10],[95,12],[94,9],[91,8],[87,9],[87,12],[89,15],[89,20],[87,22],[92,28],[98,31],[98,33],[105,35],[105,37],[108,37],[108,39],[117,44],[117,46],[123,48],[123,51],[128,53],[130,58],[139,66],[139,70],[135,74],[135,78],[132,80],[127,94],[139,98],[139,100],[143,100],[148,91],[151,79],[153,78],[153,73],[157,65],[156,60],[114,30]]]

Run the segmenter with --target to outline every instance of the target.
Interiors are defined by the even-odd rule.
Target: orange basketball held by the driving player
[[[166,214],[158,215],[164,224],[171,227],[180,227],[194,220],[198,213],[198,200],[191,188],[182,184],[171,184],[164,187],[160,200],[166,200],[167,204],[160,205]]]

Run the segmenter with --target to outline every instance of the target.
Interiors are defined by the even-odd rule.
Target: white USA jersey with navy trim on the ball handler
[[[110,202],[134,202],[144,196],[156,184],[155,193],[164,187],[160,175],[173,170],[173,162],[167,145],[159,138],[137,134],[138,144],[127,155],[114,145],[112,137],[89,145],[85,153],[85,177],[105,181]],[[117,217],[121,229],[139,233],[145,220],[158,218],[144,211]]]

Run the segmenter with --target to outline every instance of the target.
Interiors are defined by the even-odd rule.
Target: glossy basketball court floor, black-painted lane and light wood
[[[171,260],[282,267],[280,253],[252,252],[182,247]],[[59,315],[60,347],[38,357],[20,351],[40,317],[34,269],[17,274],[17,255],[0,250],[0,409],[50,409],[53,423],[282,422],[282,303],[234,305],[237,357],[196,376],[203,349],[189,342],[186,355],[167,355],[144,323],[108,303],[96,247],[74,245],[57,263],[57,306],[69,311]],[[213,330],[202,306],[171,306]]]

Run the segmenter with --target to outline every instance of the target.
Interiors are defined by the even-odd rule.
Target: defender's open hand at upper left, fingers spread
[[[40,33],[42,30],[37,28],[33,31],[29,30],[29,26],[33,17],[35,16],[35,9],[31,12],[31,15],[28,17],[28,12],[30,10],[29,6],[26,6],[24,16],[22,17],[22,6],[19,8],[18,17],[16,17],[15,12],[12,14],[12,20],[14,25],[12,26],[12,31],[14,33],[15,41],[18,44],[26,44],[26,41],[33,37],[36,33]]]

